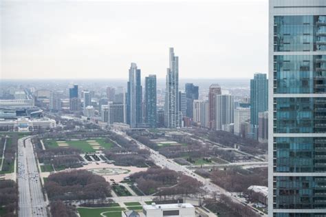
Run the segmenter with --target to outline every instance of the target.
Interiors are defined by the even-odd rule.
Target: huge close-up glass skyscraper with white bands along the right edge
[[[326,216],[326,1],[270,0],[269,28],[269,216]]]

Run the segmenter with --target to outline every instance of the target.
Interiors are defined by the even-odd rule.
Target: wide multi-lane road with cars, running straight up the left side
[[[47,201],[45,201],[42,193],[39,170],[37,169],[36,158],[30,137],[19,139],[17,156],[19,217],[46,217]]]

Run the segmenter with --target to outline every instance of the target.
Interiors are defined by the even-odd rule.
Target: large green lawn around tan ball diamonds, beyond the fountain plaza
[[[83,152],[95,152],[96,149],[91,147],[91,145],[87,142],[87,140],[80,140],[80,141],[65,141],[69,145],[69,147],[76,147],[78,149],[81,149]],[[90,139],[96,141],[101,147],[105,149],[110,149],[112,147],[112,143],[106,143],[105,138],[96,138],[96,139]],[[46,145],[46,147],[52,148],[52,147],[59,147],[57,141],[55,140],[45,140],[43,141]]]

